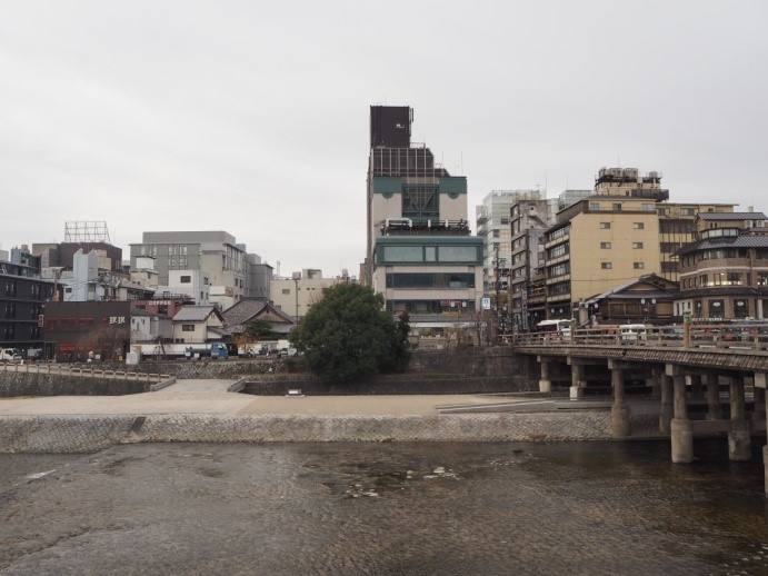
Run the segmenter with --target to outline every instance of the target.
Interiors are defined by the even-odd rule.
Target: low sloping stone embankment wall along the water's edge
[[[430,416],[2,416],[1,453],[91,453],[118,443],[542,441],[610,438],[606,411]]]

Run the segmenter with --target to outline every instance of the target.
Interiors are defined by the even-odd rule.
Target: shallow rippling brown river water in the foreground
[[[0,455],[0,574],[768,574],[759,446],[136,444]]]

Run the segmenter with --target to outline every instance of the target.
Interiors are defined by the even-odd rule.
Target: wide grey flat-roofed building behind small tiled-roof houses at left
[[[249,255],[228,232],[143,232],[142,242],[130,248],[131,270],[139,269],[141,257],[154,258],[159,286],[169,286],[169,270],[205,272],[210,281],[209,300],[220,309],[240,298],[269,295],[271,266],[262,264],[258,255]]]

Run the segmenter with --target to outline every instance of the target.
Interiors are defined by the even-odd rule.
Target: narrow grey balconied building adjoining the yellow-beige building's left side
[[[528,330],[530,288],[536,270],[543,265],[541,237],[552,224],[548,200],[519,200],[510,209],[511,264],[509,308],[513,330]]]

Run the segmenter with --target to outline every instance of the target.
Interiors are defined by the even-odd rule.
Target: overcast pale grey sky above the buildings
[[[227,230],[280,272],[366,247],[371,105],[490,190],[664,173],[768,210],[765,1],[0,0],[0,247]]]

